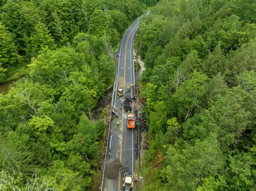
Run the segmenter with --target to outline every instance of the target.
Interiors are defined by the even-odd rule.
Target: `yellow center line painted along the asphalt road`
[[[131,30],[131,32],[129,33],[129,36],[127,37],[127,40],[125,42],[125,53],[124,53],[124,94],[125,94],[125,67],[126,67],[126,49],[127,49],[127,42],[129,40],[129,37],[133,31],[134,28],[136,28],[136,26],[139,23],[137,23]],[[122,47],[121,47],[122,48]],[[123,94],[123,105],[124,105],[124,94]],[[122,163],[122,152],[123,152],[123,129],[124,129],[124,106],[122,108],[122,126],[121,126],[121,145],[120,145],[120,154],[119,154],[119,160],[120,163]],[[119,177],[118,177],[118,190],[120,190],[120,182],[121,182],[121,173],[119,172]]]

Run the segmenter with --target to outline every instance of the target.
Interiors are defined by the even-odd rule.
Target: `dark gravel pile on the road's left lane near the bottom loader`
[[[107,179],[111,180],[117,179],[119,175],[119,168],[124,167],[124,165],[122,165],[118,159],[114,159],[108,162],[106,165],[107,168],[105,176]]]

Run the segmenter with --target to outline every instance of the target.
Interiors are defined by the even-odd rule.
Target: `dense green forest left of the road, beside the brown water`
[[[111,54],[145,7],[137,0],[0,1],[0,83],[22,77],[0,93],[1,190],[98,189],[105,124],[92,109],[113,83]]]

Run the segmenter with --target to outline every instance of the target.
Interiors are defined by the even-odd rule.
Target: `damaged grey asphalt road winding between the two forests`
[[[142,17],[142,16],[141,16]],[[111,161],[119,160],[122,165],[129,166],[129,174],[133,176],[135,172],[135,163],[138,158],[137,131],[127,129],[127,112],[124,110],[125,97],[133,98],[134,84],[134,64],[133,64],[133,39],[139,28],[139,19],[137,18],[125,32],[117,56],[116,79],[113,88],[112,108],[116,107],[117,118],[111,121],[109,132],[108,152],[104,172],[111,172]],[[129,87],[129,90],[128,88]],[[117,91],[123,88],[125,94],[117,97]],[[134,111],[132,111],[134,112]],[[117,125],[119,121],[119,125]],[[114,172],[113,172],[114,173]],[[123,190],[122,174],[117,173],[116,179],[109,178],[103,174],[102,191]],[[136,190],[135,185],[133,190]]]

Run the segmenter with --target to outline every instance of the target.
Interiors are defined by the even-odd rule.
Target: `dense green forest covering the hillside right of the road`
[[[140,24],[144,190],[255,190],[255,10],[165,0]]]

